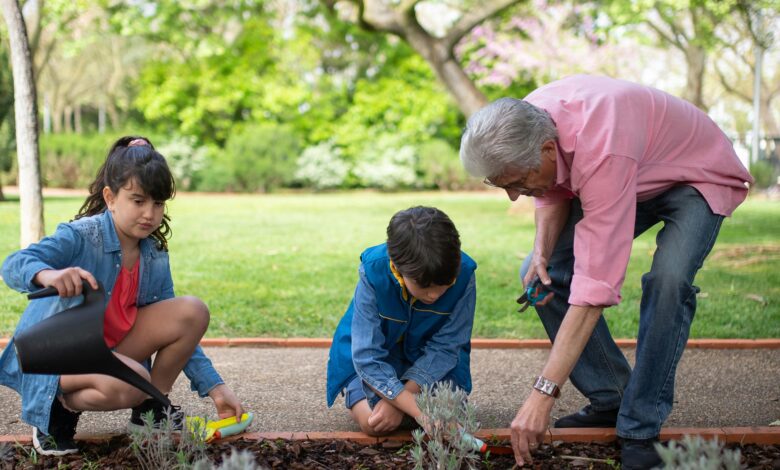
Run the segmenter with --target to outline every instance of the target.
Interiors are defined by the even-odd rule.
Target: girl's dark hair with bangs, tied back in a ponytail
[[[100,167],[95,180],[89,185],[89,196],[76,214],[76,219],[100,214],[106,210],[103,188],[108,186],[114,194],[135,179],[141,189],[155,201],[167,201],[176,194],[171,170],[165,158],[146,137],[125,136],[114,142],[108,152],[105,163]],[[168,238],[171,227],[168,214],[163,215],[162,223],[151,237],[157,242],[157,248],[168,250]]]

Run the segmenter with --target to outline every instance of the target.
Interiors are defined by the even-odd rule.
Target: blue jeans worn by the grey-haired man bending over
[[[555,341],[569,308],[569,286],[574,269],[574,226],[582,219],[579,200],[550,256],[549,270],[555,296],[538,307],[547,335]],[[639,335],[632,372],[617,347],[602,316],[570,376],[595,410],[620,408],[617,435],[630,439],[658,436],[672,410],[674,376],[688,341],[696,293],[696,272],[704,263],[718,236],[723,216],[714,214],[691,186],[675,186],[648,201],[637,203],[634,237],[658,222],[650,272],[642,276]],[[531,255],[520,268],[528,271]]]

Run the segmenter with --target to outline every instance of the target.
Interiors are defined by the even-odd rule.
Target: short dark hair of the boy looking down
[[[460,273],[460,235],[435,207],[396,212],[387,226],[387,253],[402,276],[423,288],[450,285]]]

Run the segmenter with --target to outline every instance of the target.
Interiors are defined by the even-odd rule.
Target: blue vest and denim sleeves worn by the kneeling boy
[[[386,244],[368,248],[360,260],[355,295],[330,348],[328,406],[356,374],[390,400],[406,380],[424,386],[446,378],[470,392],[477,264],[461,252],[455,284],[427,305],[409,296]]]

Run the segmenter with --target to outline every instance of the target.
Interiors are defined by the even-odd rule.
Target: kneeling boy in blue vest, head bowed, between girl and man
[[[420,422],[415,395],[449,380],[471,391],[469,354],[476,263],[460,251],[447,215],[433,207],[396,213],[387,242],[360,255],[359,281],[328,360],[328,406],[344,391],[366,434]]]

